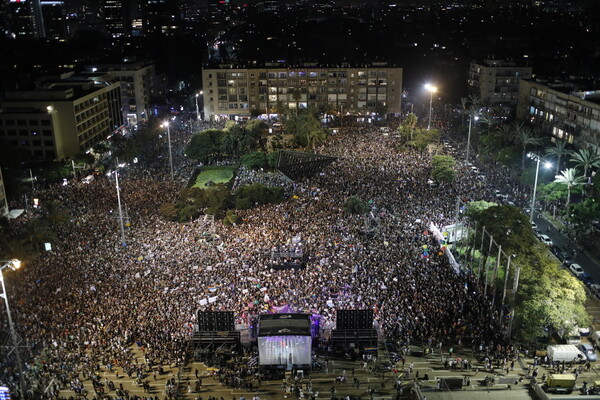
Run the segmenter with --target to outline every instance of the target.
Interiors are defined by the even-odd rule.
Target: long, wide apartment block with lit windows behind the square
[[[202,71],[204,115],[248,116],[309,107],[340,113],[400,113],[402,68],[385,63],[369,67],[223,66]]]

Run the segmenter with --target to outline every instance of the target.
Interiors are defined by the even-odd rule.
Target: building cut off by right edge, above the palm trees
[[[521,80],[517,119],[531,121],[553,139],[600,152],[600,90]]]

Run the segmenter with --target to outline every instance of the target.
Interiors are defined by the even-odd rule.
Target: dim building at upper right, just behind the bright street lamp
[[[485,60],[469,67],[469,92],[491,106],[516,106],[519,80],[531,78],[531,67],[511,61]]]

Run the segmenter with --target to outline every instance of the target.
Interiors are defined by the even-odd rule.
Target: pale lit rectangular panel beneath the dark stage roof
[[[259,365],[310,365],[312,337],[264,336],[258,338]]]

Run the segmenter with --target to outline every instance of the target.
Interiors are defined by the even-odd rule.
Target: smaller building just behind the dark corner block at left
[[[154,64],[140,61],[94,65],[86,67],[86,71],[88,74],[108,74],[119,82],[123,121],[136,125],[148,119],[150,96],[155,87]]]

